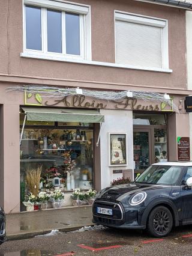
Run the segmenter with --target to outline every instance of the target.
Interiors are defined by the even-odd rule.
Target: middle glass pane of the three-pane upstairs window
[[[47,10],[48,52],[62,53],[61,11]]]

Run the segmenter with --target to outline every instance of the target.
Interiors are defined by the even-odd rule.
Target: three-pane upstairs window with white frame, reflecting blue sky
[[[89,58],[88,7],[47,0],[24,3],[25,52]]]

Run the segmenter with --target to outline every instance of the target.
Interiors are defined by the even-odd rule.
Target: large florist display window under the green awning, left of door
[[[20,132],[23,115],[20,115]],[[72,126],[73,125],[73,126]],[[20,180],[30,192],[26,173],[41,166],[38,189],[62,192],[94,186],[93,126],[85,123],[26,121],[20,145]]]

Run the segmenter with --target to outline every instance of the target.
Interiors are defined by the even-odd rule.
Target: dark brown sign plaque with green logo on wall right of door
[[[190,138],[178,137],[178,160],[190,161]]]

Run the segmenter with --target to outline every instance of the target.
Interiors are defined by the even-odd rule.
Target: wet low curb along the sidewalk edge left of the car
[[[95,224],[88,224],[87,226],[91,226],[94,227]],[[59,232],[61,233],[66,233],[66,232],[70,232],[70,231],[76,231],[79,230],[80,228],[85,227],[85,225],[80,225],[80,226],[76,226],[76,227],[71,227],[71,228],[59,228]],[[23,239],[31,239],[34,236],[38,236],[38,235],[44,235],[47,233],[50,233],[52,230],[42,230],[42,231],[32,231],[30,233],[18,233],[18,234],[10,234],[6,236],[6,241],[13,241],[13,240],[23,240]]]

